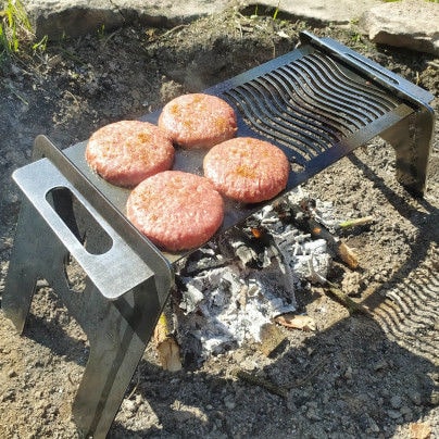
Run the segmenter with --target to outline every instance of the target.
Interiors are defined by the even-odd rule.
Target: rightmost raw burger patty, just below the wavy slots
[[[287,186],[289,175],[284,151],[251,137],[216,145],[204,156],[203,168],[221,193],[244,203],[277,196]]]

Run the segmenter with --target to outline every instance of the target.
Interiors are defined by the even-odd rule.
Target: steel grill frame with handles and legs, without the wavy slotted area
[[[396,104],[344,137],[329,133],[326,138],[333,136],[334,143],[310,160],[301,160],[302,170],[290,173],[286,190],[380,135],[396,149],[399,181],[414,193],[422,195],[435,123],[429,106],[432,95],[335,40],[319,39],[310,33],[302,33],[300,37],[301,46],[292,52],[204,92],[224,98],[235,106],[238,136],[267,139],[246,123],[236,102],[230,100],[230,90],[243,85],[248,87],[250,81],[261,81],[271,72],[284,72],[285,65],[308,60],[306,57],[328,58],[342,72],[349,72],[349,80],[360,81],[363,86],[373,84],[374,96],[379,90],[378,95],[390,96]],[[306,68],[317,67],[306,64]],[[159,114],[156,111],[142,120],[156,122]],[[317,134],[318,129],[314,135]],[[293,158],[288,145],[276,139],[273,142]],[[43,277],[53,286],[90,340],[90,356],[75,398],[73,415],[86,436],[99,438],[105,437],[110,429],[167,300],[174,280],[173,264],[187,253],[163,253],[142,237],[124,215],[128,191],[92,174],[85,163],[84,150],[85,142],[81,142],[61,151],[49,139],[39,136],[35,142],[34,162],[14,173],[24,199],[2,309],[22,333],[36,280]],[[174,168],[200,174],[203,154],[197,151],[189,156],[187,151],[177,150]],[[49,175],[48,180],[41,181],[41,175]],[[35,181],[41,184],[35,185]],[[110,250],[103,254],[99,251],[90,254],[77,231],[78,224],[70,217],[72,200],[54,197],[52,203],[48,202],[48,193],[57,188],[67,189],[60,193],[71,193],[101,225],[102,230],[98,234],[109,236],[112,249],[123,248],[123,252],[112,253]],[[220,233],[243,221],[261,205],[226,202],[226,217]],[[86,289],[80,294],[72,291],[65,281],[64,261],[67,255],[80,262],[88,276]],[[118,263],[122,259],[123,263]],[[112,264],[112,269],[108,264]],[[117,276],[125,277],[118,279]]]

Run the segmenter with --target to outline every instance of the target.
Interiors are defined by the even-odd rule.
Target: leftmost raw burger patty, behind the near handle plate
[[[86,160],[105,180],[133,187],[158,172],[171,168],[174,152],[172,140],[156,125],[120,121],[91,135]]]

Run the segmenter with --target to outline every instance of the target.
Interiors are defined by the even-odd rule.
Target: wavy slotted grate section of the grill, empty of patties
[[[311,53],[224,92],[255,133],[304,166],[400,102],[329,57]]]

